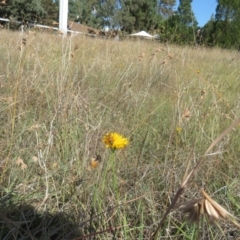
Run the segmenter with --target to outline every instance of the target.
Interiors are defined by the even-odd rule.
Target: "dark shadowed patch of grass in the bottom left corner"
[[[65,213],[38,213],[31,205],[1,206],[2,239],[72,239],[81,234]]]

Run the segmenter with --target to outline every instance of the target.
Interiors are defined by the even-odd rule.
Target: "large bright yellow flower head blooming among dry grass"
[[[116,132],[107,133],[103,137],[103,142],[106,144],[106,147],[111,149],[120,149],[125,148],[128,145],[128,139],[124,138]]]

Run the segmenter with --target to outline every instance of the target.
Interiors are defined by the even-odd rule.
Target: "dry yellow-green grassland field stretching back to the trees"
[[[238,118],[239,64],[216,48],[1,31],[0,239],[150,239],[186,169]],[[105,147],[112,131],[125,149]],[[177,206],[204,188],[238,217],[239,156],[237,126]],[[158,239],[240,239],[177,206]]]

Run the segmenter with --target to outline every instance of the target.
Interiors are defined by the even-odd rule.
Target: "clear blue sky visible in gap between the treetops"
[[[179,0],[177,0],[177,7]],[[217,7],[216,0],[193,0],[192,10],[198,21],[198,26],[203,27],[211,18],[212,14],[215,15]]]

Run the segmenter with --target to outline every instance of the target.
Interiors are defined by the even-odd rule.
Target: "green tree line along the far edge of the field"
[[[174,44],[236,48],[240,41],[240,0],[216,0],[215,15],[199,28],[193,0],[69,0],[69,20],[123,34],[145,30]],[[204,3],[203,3],[204,4]],[[59,0],[6,0],[0,17],[52,25],[58,21]]]

